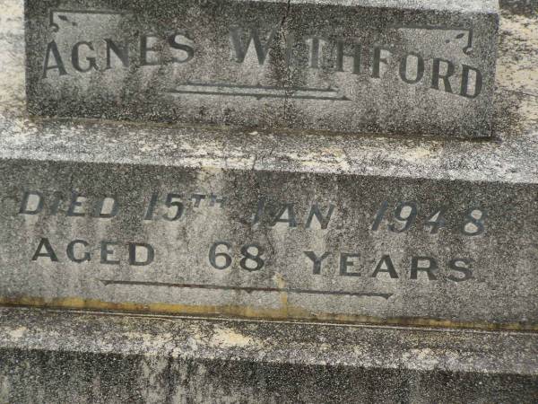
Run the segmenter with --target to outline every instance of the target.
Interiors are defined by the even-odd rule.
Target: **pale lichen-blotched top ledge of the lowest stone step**
[[[0,356],[2,349],[22,349],[223,361],[233,357],[279,364],[538,378],[538,333],[530,332],[212,320],[6,307],[0,307],[0,316]],[[264,352],[263,359],[260,352]]]

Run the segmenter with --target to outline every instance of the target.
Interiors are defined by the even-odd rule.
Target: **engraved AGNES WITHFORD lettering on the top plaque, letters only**
[[[183,65],[205,63],[207,42],[187,31],[171,34],[140,34],[133,40],[112,38],[52,40],[43,56],[42,78],[91,74],[131,66]],[[258,30],[232,26],[229,29],[229,57],[222,63],[233,66],[298,66],[311,71],[340,75],[363,75],[372,80],[397,80],[407,85],[421,84],[442,92],[476,98],[482,92],[480,69],[447,57],[426,57],[420,49],[395,45],[363,44],[359,39],[327,39],[285,34],[278,28]],[[205,44],[205,45],[204,45]],[[214,57],[219,57],[214,51]]]

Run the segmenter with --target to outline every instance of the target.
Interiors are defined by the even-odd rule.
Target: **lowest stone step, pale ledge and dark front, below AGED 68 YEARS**
[[[1,309],[1,402],[538,400],[538,335]]]

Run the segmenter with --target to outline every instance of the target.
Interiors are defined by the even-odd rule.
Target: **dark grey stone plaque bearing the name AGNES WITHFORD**
[[[32,114],[490,136],[497,0],[27,0]]]

